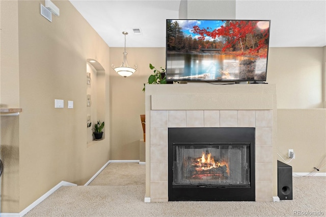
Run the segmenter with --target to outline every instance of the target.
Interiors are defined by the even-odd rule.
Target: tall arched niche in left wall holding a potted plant
[[[91,146],[96,143],[93,135],[94,124],[99,120],[105,121],[105,70],[98,61],[87,59],[85,75],[87,86],[85,126],[87,127],[87,146]],[[103,132],[102,139],[105,138],[105,127]]]

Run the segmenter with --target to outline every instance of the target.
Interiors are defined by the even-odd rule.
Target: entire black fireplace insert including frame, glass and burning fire
[[[255,201],[255,128],[168,130],[169,201]]]

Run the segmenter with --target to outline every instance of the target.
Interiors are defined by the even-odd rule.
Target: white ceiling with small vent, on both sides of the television
[[[110,47],[124,47],[123,31],[129,33],[126,47],[165,47],[166,19],[179,18],[180,0],[70,2]],[[326,46],[326,0],[236,0],[235,15],[270,19],[271,47]],[[135,28],[142,35],[134,35]]]

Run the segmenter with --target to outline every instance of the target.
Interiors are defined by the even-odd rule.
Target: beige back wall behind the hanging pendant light
[[[128,39],[127,39],[128,40]],[[149,63],[165,68],[165,48],[126,48],[130,66],[137,71],[124,78],[110,72],[111,151],[110,159],[139,160],[139,140],[143,138],[140,115],[145,114],[144,84],[152,73]],[[110,48],[111,64],[122,64],[123,48]]]

